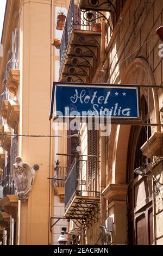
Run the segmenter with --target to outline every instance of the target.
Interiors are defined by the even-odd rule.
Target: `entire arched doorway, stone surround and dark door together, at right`
[[[154,76],[147,61],[143,58],[136,58],[128,66],[121,84],[154,85]],[[148,122],[160,123],[156,89],[142,89],[141,101],[143,121],[147,121],[148,113]],[[152,126],[151,131],[148,130],[148,137],[159,130],[159,127]],[[140,150],[141,145],[146,141],[147,126],[117,125],[111,127],[108,182],[129,185],[127,231],[130,237],[129,243],[133,245],[153,243],[151,180],[147,176],[134,176],[135,166],[141,166],[146,161]],[[129,149],[130,144],[133,148]]]

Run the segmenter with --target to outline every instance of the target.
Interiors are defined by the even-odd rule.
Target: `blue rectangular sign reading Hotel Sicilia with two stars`
[[[139,88],[120,84],[53,84],[50,119],[111,117],[139,119]]]

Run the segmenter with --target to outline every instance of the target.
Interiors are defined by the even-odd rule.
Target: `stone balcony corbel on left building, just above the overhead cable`
[[[9,127],[16,130],[20,115],[20,105],[18,101],[9,100],[7,123]]]

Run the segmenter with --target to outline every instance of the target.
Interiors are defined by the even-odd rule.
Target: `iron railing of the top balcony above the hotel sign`
[[[97,25],[99,25],[99,29],[101,29],[100,23],[102,17],[102,14],[96,11],[78,9],[78,5],[75,5],[74,0],[71,0],[60,45],[60,71],[72,31],[95,31],[94,29]]]

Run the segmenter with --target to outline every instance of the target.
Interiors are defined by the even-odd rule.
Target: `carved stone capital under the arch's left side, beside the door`
[[[109,184],[102,192],[102,196],[112,204],[126,203],[128,185],[127,184]]]

